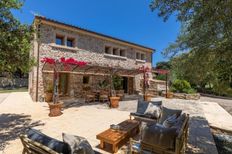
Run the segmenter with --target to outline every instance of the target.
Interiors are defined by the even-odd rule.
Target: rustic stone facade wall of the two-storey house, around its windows
[[[151,67],[151,53],[147,53],[145,51],[140,51],[144,52],[146,54],[146,61],[145,63],[143,62],[138,62],[136,61],[136,52],[138,51],[137,49],[133,49],[131,47],[127,46],[122,46],[120,44],[116,44],[113,42],[105,41],[103,39],[95,38],[95,37],[90,37],[88,35],[84,34],[79,34],[77,32],[73,31],[68,31],[68,30],[62,30],[58,29],[56,27],[52,27],[49,25],[41,25],[41,37],[40,37],[40,45],[39,45],[39,59],[41,60],[43,57],[52,57],[52,58],[75,58],[78,60],[86,61],[86,62],[91,62],[92,64],[96,65],[102,65],[102,66],[108,66],[109,64],[111,66],[117,67],[118,65],[121,67],[127,67],[128,69],[137,69],[141,65],[148,65]],[[75,39],[75,47],[70,48],[66,46],[59,46],[55,44],[55,36],[56,34],[59,35],[64,35],[65,39],[67,37],[72,37]],[[36,57],[37,54],[37,41],[34,42],[34,50],[33,50],[33,55]],[[104,54],[104,48],[105,45],[112,45],[114,47],[120,47],[126,50],[126,58],[120,58],[120,57],[112,57]],[[42,74],[42,67],[43,64],[39,60],[39,82],[38,82],[38,92],[39,92],[39,98],[44,96],[44,78]],[[35,100],[35,91],[36,91],[36,67],[33,68],[32,73],[30,73],[30,80],[31,84],[30,87],[30,93],[32,95],[33,100]],[[78,84],[78,79],[73,78],[70,76],[70,81],[73,80],[74,82],[73,85]],[[139,77],[135,78],[134,81],[135,85],[139,83]],[[139,89],[139,86],[134,86],[135,90]],[[78,88],[76,88],[78,89]],[[75,88],[74,88],[75,91]],[[72,92],[73,93],[73,92]],[[39,99],[40,100],[40,99]]]

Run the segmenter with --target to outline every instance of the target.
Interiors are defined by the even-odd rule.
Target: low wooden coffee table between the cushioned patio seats
[[[104,149],[105,143],[108,143],[112,145],[112,151],[116,153],[119,146],[128,142],[130,137],[137,135],[139,132],[139,122],[136,120],[125,120],[118,125],[121,127],[118,131],[107,129],[97,135],[101,149]]]

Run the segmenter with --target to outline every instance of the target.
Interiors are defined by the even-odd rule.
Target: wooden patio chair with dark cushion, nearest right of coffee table
[[[181,121],[170,128],[161,127],[159,124],[147,126],[142,132],[140,141],[130,139],[130,153],[185,153],[189,115],[181,116]]]

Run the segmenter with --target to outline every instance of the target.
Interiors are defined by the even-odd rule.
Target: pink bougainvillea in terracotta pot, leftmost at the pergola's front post
[[[49,64],[53,66],[53,102],[48,103],[49,105],[49,116],[51,117],[55,117],[55,116],[59,116],[62,114],[61,110],[62,110],[62,106],[63,103],[61,101],[59,101],[59,93],[58,93],[58,78],[59,78],[59,70],[61,68],[65,68],[66,70],[68,69],[74,69],[78,66],[84,66],[87,63],[83,62],[83,61],[77,61],[73,58],[60,58],[60,59],[53,59],[53,58],[43,58],[41,60],[42,63],[45,64]],[[72,66],[74,66],[72,68]]]

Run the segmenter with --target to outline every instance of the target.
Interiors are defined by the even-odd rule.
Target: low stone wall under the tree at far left
[[[9,79],[6,77],[0,77],[0,89],[20,88],[20,87],[27,87],[27,86],[28,86],[27,78]]]

